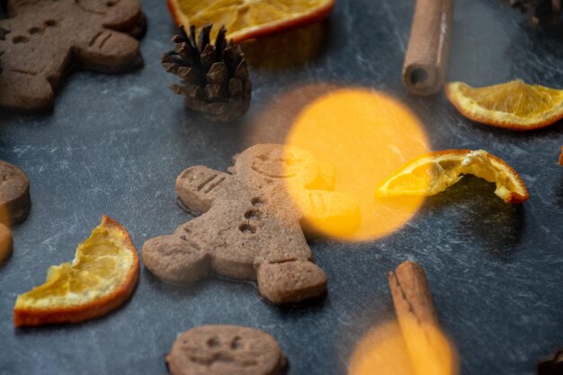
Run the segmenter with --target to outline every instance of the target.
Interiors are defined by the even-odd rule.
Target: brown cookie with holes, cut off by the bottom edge
[[[283,375],[288,362],[272,335],[245,326],[200,326],[166,356],[172,375]]]

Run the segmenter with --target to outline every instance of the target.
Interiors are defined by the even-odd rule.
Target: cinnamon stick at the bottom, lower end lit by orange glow
[[[442,334],[422,266],[401,263],[395,272],[389,272],[389,288],[416,375],[459,373],[454,349]]]

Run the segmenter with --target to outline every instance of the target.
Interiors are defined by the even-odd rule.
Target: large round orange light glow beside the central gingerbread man
[[[368,89],[339,89],[308,104],[286,138],[335,167],[334,191],[358,202],[361,222],[353,233],[318,231],[329,237],[370,240],[401,228],[424,197],[375,198],[375,189],[408,160],[427,152],[428,141],[416,115],[397,100]],[[289,191],[295,191],[289,186]],[[299,203],[299,199],[297,199]]]

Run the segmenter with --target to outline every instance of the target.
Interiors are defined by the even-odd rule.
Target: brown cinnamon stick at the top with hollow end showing
[[[448,67],[453,0],[417,0],[408,40],[403,83],[413,94],[435,94]]]

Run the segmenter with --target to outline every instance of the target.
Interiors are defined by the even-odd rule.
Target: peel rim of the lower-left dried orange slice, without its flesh
[[[49,308],[37,308],[33,306],[34,303],[32,301],[25,300],[26,295],[34,290],[44,288],[49,284],[49,273],[53,269],[52,267],[57,268],[67,264],[70,267],[73,267],[73,265],[70,264],[76,263],[78,259],[77,254],[79,253],[81,246],[85,246],[85,243],[94,237],[94,232],[100,229],[107,230],[109,236],[113,239],[117,238],[119,242],[116,245],[119,246],[120,249],[126,250],[126,254],[130,254],[131,256],[130,268],[123,277],[120,285],[116,286],[111,291],[106,292],[100,298],[96,298],[94,296],[94,298],[86,299],[83,303],[68,304],[67,306],[55,305]],[[78,262],[79,261],[80,260],[78,259]],[[22,327],[79,323],[94,317],[101,317],[113,309],[118,308],[127,299],[129,299],[135,290],[138,280],[139,254],[131,241],[127,229],[121,226],[121,224],[116,220],[108,216],[103,216],[101,224],[94,228],[90,237],[85,239],[85,241],[76,247],[76,257],[72,263],[62,263],[58,266],[51,266],[47,274],[47,280],[43,284],[18,296],[13,308],[13,325],[15,327]]]

